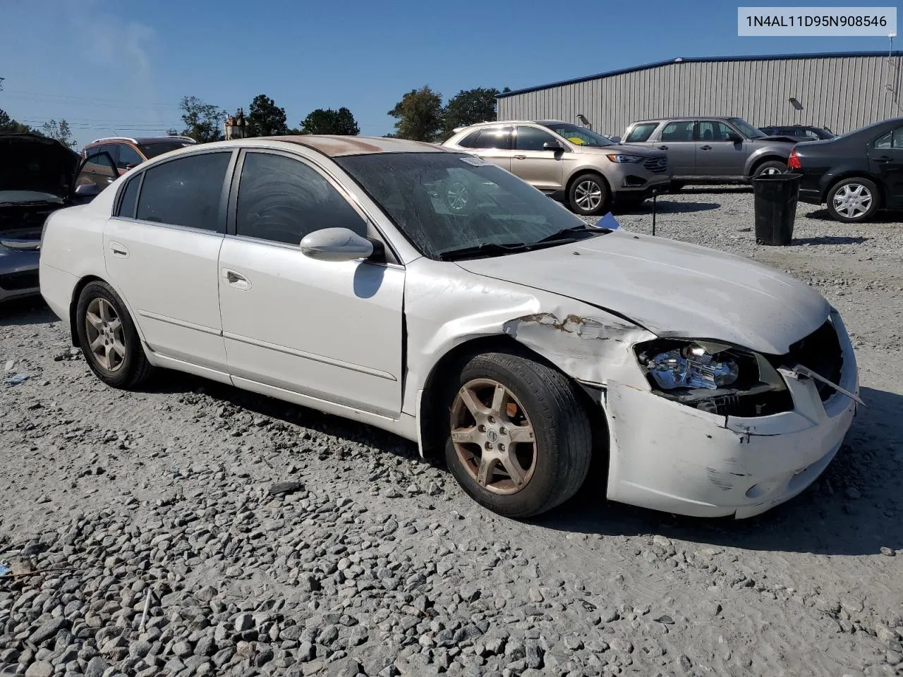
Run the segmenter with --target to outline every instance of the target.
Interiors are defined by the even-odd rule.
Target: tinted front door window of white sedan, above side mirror
[[[247,153],[238,184],[236,234],[299,245],[321,228],[367,236],[367,223],[329,181],[284,155]]]

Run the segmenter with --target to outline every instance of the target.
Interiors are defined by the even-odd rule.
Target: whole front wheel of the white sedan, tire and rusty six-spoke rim
[[[528,357],[471,357],[446,393],[445,460],[479,504],[506,517],[538,515],[581,487],[591,429],[574,385]]]

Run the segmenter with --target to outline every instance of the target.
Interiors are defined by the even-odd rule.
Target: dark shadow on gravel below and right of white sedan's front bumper
[[[861,408],[841,451],[801,495],[745,520],[702,519],[600,500],[599,482],[534,523],[602,535],[661,534],[700,545],[747,550],[866,555],[903,548],[903,395],[863,388]],[[596,481],[594,482],[593,479]]]

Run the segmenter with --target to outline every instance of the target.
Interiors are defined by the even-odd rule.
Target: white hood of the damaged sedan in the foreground
[[[708,338],[783,355],[830,306],[805,283],[741,256],[613,231],[516,255],[457,262],[470,273],[615,312],[661,337]]]

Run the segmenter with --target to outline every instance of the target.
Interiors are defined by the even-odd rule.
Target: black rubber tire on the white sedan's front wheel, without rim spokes
[[[480,383],[484,380],[504,386],[511,397],[507,399],[506,416],[496,423],[500,424],[498,441],[511,439],[511,428],[517,425],[508,416],[526,417],[532,425],[533,441],[526,447],[534,459],[532,470],[526,473],[523,487],[514,489],[514,493],[500,494],[479,484],[471,475],[468,464],[461,459],[461,453],[452,441],[452,419],[456,411],[463,411],[458,394],[464,385]],[[489,386],[490,388],[492,386]],[[559,505],[573,496],[581,487],[590,468],[592,457],[592,434],[586,410],[582,407],[579,394],[573,383],[554,369],[535,362],[529,357],[511,353],[485,353],[470,357],[462,366],[457,378],[449,379],[444,396],[449,425],[445,441],[445,460],[452,475],[461,487],[480,505],[484,505],[498,515],[512,518],[525,518],[538,515]],[[474,391],[471,391],[474,392]],[[489,401],[491,401],[489,391]],[[511,406],[515,405],[516,413]],[[491,421],[491,418],[489,419]],[[505,426],[509,426],[505,430]],[[490,426],[491,427],[491,426]],[[508,437],[505,437],[507,434]],[[478,445],[461,445],[467,450],[479,450]],[[503,445],[498,444],[499,450]],[[509,445],[508,451],[514,447]],[[516,448],[520,450],[520,447]],[[462,452],[466,453],[466,452]],[[515,454],[517,456],[517,454]],[[471,459],[479,463],[477,459]],[[522,467],[523,464],[521,464]],[[502,477],[496,483],[505,483],[507,471],[501,469],[494,473]],[[508,481],[511,485],[513,482]]]

